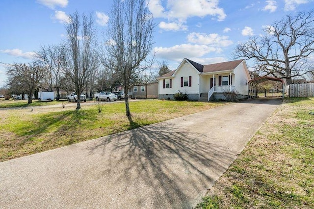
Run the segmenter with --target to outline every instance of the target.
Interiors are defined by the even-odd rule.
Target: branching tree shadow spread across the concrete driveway
[[[88,149],[106,163],[104,178],[115,185],[107,193],[124,191],[110,206],[191,208],[235,159],[212,140],[163,122],[104,137]]]

